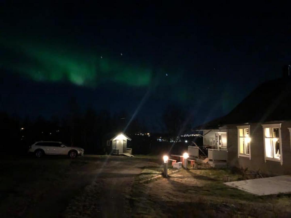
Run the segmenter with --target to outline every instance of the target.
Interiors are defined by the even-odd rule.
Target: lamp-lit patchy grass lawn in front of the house
[[[148,169],[151,170],[151,169]],[[136,182],[130,196],[135,217],[290,217],[291,195],[255,196],[223,184],[241,177],[227,169],[180,170],[147,184]]]

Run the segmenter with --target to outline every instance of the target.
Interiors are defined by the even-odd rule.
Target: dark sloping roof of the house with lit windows
[[[290,106],[291,78],[275,79],[258,86],[228,115],[197,128],[210,129],[227,124],[290,120]]]

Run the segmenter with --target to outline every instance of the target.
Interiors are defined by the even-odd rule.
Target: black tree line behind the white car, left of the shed
[[[0,113],[1,150],[12,154],[26,153],[29,146],[36,141],[61,141],[68,146],[85,149],[86,153],[104,154],[109,135],[124,130],[129,117],[125,112],[110,115],[106,110],[96,111],[88,108],[84,113],[78,111],[60,118],[52,116],[36,119]],[[126,133],[146,131],[140,121],[134,119]]]

